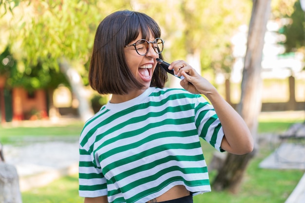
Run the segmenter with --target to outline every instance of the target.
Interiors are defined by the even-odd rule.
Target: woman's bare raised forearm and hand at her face
[[[233,154],[245,154],[253,150],[253,138],[245,121],[207,79],[182,60],[172,62],[169,69],[185,77],[180,82],[185,90],[204,94],[210,100],[225,133],[221,148]]]

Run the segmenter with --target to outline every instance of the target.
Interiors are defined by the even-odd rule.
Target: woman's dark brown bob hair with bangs
[[[134,11],[117,11],[104,18],[97,27],[90,61],[89,84],[100,94],[126,94],[143,88],[131,73],[124,54],[124,46],[139,34],[149,39],[160,37],[158,24],[149,16]],[[159,54],[159,58],[163,56]],[[164,87],[167,72],[157,64],[151,87]]]

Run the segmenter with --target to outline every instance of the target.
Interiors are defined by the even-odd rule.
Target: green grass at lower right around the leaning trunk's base
[[[210,155],[212,152],[208,151],[208,153]],[[194,203],[284,203],[305,171],[259,168],[259,163],[269,153],[271,153],[269,149],[262,148],[250,161],[238,194],[212,190],[195,196]],[[210,157],[207,157],[208,165],[209,160]],[[215,175],[216,171],[210,172],[211,182]]]

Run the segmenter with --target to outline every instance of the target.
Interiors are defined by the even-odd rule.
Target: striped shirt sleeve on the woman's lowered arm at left
[[[106,178],[94,162],[94,156],[79,146],[79,196],[99,197],[107,195]]]

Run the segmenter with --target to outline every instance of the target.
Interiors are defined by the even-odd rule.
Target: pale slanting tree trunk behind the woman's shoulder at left
[[[70,66],[67,60],[62,59],[59,62],[60,70],[67,77],[71,87],[72,92],[76,96],[79,105],[78,105],[78,113],[81,117],[82,121],[87,121],[90,117],[94,115],[94,111],[88,101],[86,96],[86,90],[82,83],[81,76],[77,73],[77,71]]]

